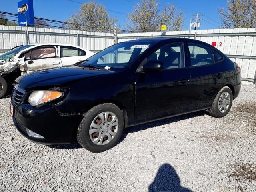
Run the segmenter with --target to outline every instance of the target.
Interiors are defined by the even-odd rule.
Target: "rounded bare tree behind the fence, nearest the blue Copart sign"
[[[113,32],[116,22],[117,19],[110,18],[102,4],[88,2],[82,4],[78,13],[70,15],[66,26],[72,30]]]

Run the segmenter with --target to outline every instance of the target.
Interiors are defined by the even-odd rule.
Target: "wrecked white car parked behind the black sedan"
[[[69,44],[30,44],[17,46],[0,55],[0,98],[8,94],[14,80],[28,72],[74,65],[94,53]]]

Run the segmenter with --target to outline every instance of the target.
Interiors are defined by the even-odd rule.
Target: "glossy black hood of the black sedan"
[[[62,84],[114,73],[112,71],[90,70],[81,67],[63,67],[40,70],[18,77],[15,81],[25,90],[41,86],[60,86]]]

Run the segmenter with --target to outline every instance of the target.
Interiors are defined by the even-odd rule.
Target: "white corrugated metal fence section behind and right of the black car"
[[[216,42],[216,48],[242,67],[242,78],[252,84],[256,79],[256,28],[196,30],[197,40],[208,44]],[[194,38],[195,31],[191,31]],[[138,38],[172,37],[189,38],[189,31],[118,34],[118,42]]]

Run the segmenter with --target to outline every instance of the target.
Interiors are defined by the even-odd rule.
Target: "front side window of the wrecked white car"
[[[29,53],[24,54],[24,56],[26,58],[31,58],[31,59],[56,57],[56,48],[54,47],[37,48],[31,51],[30,56],[29,56]]]

